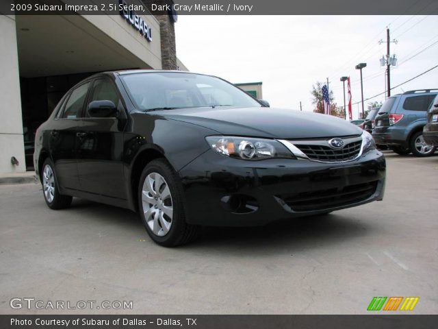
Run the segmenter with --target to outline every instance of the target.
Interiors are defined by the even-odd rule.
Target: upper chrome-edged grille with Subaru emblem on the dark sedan
[[[342,149],[332,149],[326,145],[294,145],[311,160],[340,162],[356,158],[361,151],[362,140],[348,143]]]

